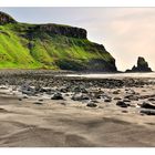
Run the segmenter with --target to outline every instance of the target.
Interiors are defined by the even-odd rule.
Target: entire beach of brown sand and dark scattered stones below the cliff
[[[0,71],[0,147],[155,146],[154,76],[69,74]]]

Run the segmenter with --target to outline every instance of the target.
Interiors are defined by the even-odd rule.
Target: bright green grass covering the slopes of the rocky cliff
[[[23,23],[0,25],[0,68],[56,70],[58,61],[70,60],[80,64],[92,59],[103,59],[107,62],[112,59],[110,53],[97,50],[94,43],[86,39],[37,32],[30,41],[22,37],[30,27],[34,25]]]

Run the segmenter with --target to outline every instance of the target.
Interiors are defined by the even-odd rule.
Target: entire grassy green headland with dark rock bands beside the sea
[[[17,22],[0,12],[0,68],[116,72],[115,59],[84,29]]]

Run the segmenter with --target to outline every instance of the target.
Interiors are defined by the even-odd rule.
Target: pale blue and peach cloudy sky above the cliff
[[[155,8],[0,8],[19,22],[61,23],[87,30],[90,41],[103,44],[120,71],[144,56],[155,71]]]

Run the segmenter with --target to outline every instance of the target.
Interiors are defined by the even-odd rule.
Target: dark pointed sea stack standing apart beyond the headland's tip
[[[152,72],[152,69],[148,66],[148,63],[144,58],[138,56],[137,66],[133,66],[132,70],[126,70],[126,72]]]

